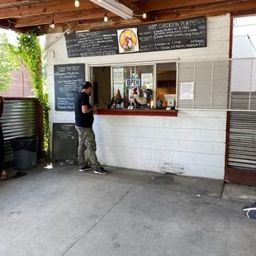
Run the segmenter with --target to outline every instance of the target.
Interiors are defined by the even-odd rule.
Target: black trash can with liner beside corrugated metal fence
[[[15,168],[26,170],[36,167],[37,141],[37,137],[18,137],[11,140]]]

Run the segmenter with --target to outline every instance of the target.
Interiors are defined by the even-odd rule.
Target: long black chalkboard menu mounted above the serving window
[[[129,31],[129,28],[125,29]],[[139,50],[134,52],[180,50],[207,46],[206,17],[146,24],[136,26],[136,29],[135,38],[138,39]],[[120,30],[121,28],[115,28],[66,34],[69,58],[121,54],[121,38],[117,36]],[[136,40],[135,38],[133,40]],[[127,40],[128,45],[131,39],[127,36],[122,40]]]

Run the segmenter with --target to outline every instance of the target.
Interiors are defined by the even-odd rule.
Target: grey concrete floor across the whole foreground
[[[110,168],[40,166],[0,183],[0,255],[256,255],[248,201],[223,183]]]

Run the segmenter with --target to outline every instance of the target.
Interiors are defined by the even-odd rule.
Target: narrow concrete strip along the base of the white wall
[[[110,174],[101,176],[101,180],[115,183],[129,183],[139,186],[164,187],[167,190],[190,192],[203,196],[221,197],[224,181],[208,178],[192,178],[172,174],[152,173],[126,168],[106,167]],[[76,175],[85,175],[87,178],[99,179],[92,171],[79,173],[73,164],[56,164],[49,172]]]

